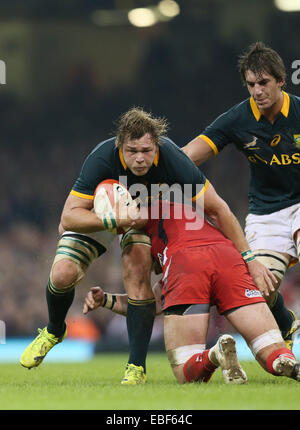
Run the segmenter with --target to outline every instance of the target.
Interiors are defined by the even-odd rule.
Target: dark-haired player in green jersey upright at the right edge
[[[283,91],[286,70],[276,51],[257,42],[239,59],[250,97],[220,115],[183,150],[196,165],[233,143],[251,170],[245,233],[255,258],[277,277],[266,297],[291,349],[299,321],[278,291],[300,257],[300,98]]]

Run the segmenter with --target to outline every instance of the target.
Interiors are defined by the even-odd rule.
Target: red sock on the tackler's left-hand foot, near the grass
[[[184,365],[183,373],[188,382],[208,382],[218,368],[208,358],[209,349],[194,354]]]

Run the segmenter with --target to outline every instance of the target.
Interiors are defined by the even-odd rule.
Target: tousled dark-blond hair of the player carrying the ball
[[[167,130],[168,123],[165,118],[156,118],[152,113],[134,107],[121,115],[116,123],[116,145],[120,147],[126,139],[140,139],[146,133],[159,145],[159,138],[165,135]]]

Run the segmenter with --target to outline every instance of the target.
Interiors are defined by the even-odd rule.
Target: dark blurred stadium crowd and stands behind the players
[[[1,0],[0,320],[6,343],[0,360],[14,360],[16,349],[10,356],[9,345],[22,350],[20,338],[27,344],[47,323],[44,292],[62,206],[85,156],[113,133],[116,118],[143,106],[166,116],[169,136],[183,146],[247,97],[237,57],[256,40],[281,54],[287,91],[300,95],[291,78],[292,64],[300,60],[299,3]],[[203,170],[244,225],[246,160],[228,148]],[[117,241],[77,287],[68,322],[70,339],[86,342],[87,354],[126,350],[125,318],[105,309],[82,318],[83,298],[93,285],[123,292]],[[298,315],[299,287],[295,267],[281,290]],[[225,330],[232,328],[213,311],[209,342]],[[158,317],[150,350],[162,348]],[[86,357],[79,349],[67,355]]]

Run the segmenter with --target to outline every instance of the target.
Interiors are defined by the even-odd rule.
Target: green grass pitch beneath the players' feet
[[[27,370],[0,364],[1,410],[299,410],[300,384],[243,362],[248,383],[179,385],[167,357],[150,353],[148,382],[121,386],[126,354],[101,354],[84,363],[47,363]]]

